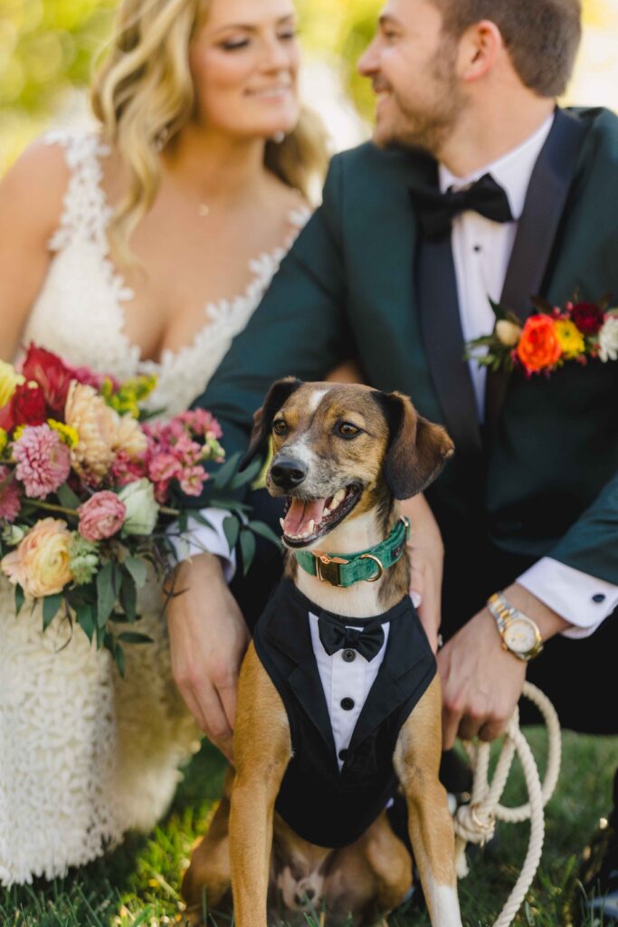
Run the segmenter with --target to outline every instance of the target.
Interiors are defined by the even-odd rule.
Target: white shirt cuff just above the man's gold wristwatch
[[[618,606],[618,586],[582,573],[552,557],[542,557],[517,579],[573,628],[564,637],[589,637]]]

